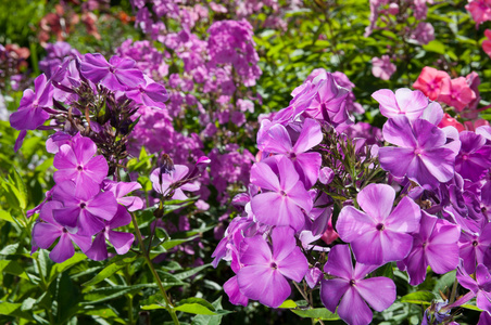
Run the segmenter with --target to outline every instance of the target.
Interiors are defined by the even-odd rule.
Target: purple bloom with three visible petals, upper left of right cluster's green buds
[[[262,151],[287,156],[293,162],[305,188],[311,188],[317,181],[322,157],[319,153],[307,153],[307,151],[320,141],[323,141],[320,125],[307,118],[294,145],[287,129],[279,123],[270,126],[263,133],[262,139],[257,139],[257,144]]]

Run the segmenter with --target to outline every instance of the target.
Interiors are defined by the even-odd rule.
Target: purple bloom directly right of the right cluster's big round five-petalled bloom
[[[413,234],[410,255],[398,265],[407,271],[410,284],[415,286],[426,278],[428,264],[438,274],[444,274],[458,265],[457,240],[461,227],[435,216],[421,212],[419,232]]]

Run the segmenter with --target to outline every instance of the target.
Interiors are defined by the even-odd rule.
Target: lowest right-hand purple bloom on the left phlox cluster
[[[116,232],[113,229],[127,225],[131,222],[131,216],[128,213],[125,207],[118,205],[117,212],[110,221],[104,221],[105,225],[102,231],[97,234],[92,242],[92,246],[86,251],[88,258],[95,261],[102,261],[108,258],[108,247],[105,239],[108,239],[118,255],[125,255],[131,244],[135,240],[134,234]]]

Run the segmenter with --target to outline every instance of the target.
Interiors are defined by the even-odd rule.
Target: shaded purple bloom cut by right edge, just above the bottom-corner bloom
[[[484,263],[484,255],[491,246],[491,223],[481,223],[479,232],[463,232],[458,240],[458,253],[462,266],[467,273],[474,273],[477,264]],[[487,266],[487,263],[484,263]]]

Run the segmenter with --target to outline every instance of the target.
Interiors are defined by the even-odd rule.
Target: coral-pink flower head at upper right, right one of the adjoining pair
[[[467,84],[467,80],[464,77],[443,79],[438,101],[461,112],[475,99],[476,93]]]

